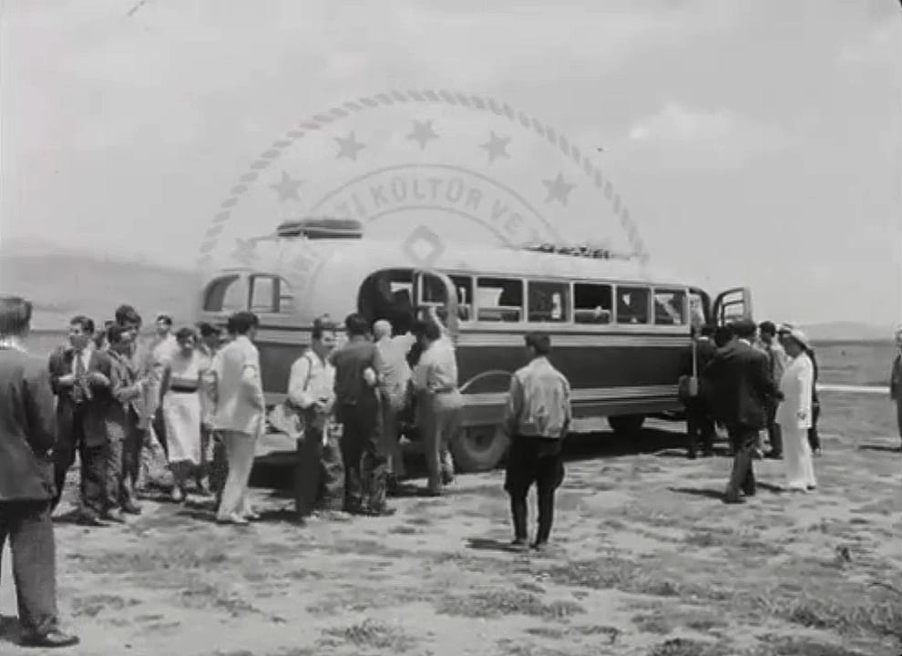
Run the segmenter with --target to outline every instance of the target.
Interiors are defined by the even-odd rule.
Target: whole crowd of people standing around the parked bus
[[[142,319],[130,305],[101,330],[83,315],[49,362],[26,353],[31,304],[0,298],[0,548],[13,551],[24,642],[61,647],[77,638],[56,619],[51,515],[76,455],[81,468],[77,521],[122,523],[141,513],[138,498],[154,472],[171,478],[171,500],[189,488],[215,497],[216,518],[244,526],[259,519],[248,494],[257,441],[272,425],[295,438],[295,521],[318,513],[388,516],[404,476],[401,425],[415,425],[425,450],[425,493],[454,481],[451,441],[460,425],[456,353],[440,312],[427,310],[404,334],[353,313],[343,323],[313,323],[309,347],[291,366],[284,401],[267,409],[257,317],[234,313],[226,333],[209,323],[173,332],[156,317],[152,341],[138,340]],[[561,455],[572,420],[570,386],[549,361],[546,333],[525,335],[528,364],[511,376],[501,427],[510,439],[504,489],[514,548],[543,549],[554,497],[565,472]],[[902,397],[902,333],[892,392]],[[692,339],[680,390],[689,456],[712,455],[715,425],[730,437],[733,471],[724,500],[756,491],[753,460],[784,459],[786,486],[816,487],[817,365],[797,326],[739,320]],[[56,398],[54,398],[56,397]],[[902,400],[900,432],[902,432]],[[536,537],[528,543],[527,496],[538,493]]]

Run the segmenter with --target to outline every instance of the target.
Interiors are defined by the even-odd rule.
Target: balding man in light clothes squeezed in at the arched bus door
[[[407,405],[407,386],[411,369],[407,354],[416,338],[411,333],[392,336],[392,324],[380,320],[374,323],[373,333],[379,350],[382,370],[379,374],[379,392],[382,395],[383,449],[388,455],[388,492],[394,494],[398,479],[404,477],[404,456],[399,444],[399,415]]]

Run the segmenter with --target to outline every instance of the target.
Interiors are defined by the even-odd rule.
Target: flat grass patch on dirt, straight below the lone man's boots
[[[500,618],[528,615],[545,620],[562,620],[586,610],[574,601],[543,603],[536,595],[522,590],[489,590],[463,597],[449,595],[436,603],[436,612],[468,618]]]

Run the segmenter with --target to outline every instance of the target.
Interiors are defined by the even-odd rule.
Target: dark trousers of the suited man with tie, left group
[[[81,417],[76,411],[72,431],[60,436],[54,447],[54,483],[56,497],[53,507],[59,504],[66,486],[66,475],[75,463],[76,452],[81,463],[80,512],[85,517],[99,518],[106,510],[108,444],[87,446]]]

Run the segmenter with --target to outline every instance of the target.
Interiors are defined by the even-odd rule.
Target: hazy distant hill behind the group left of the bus
[[[19,250],[4,244],[0,292],[25,296],[35,305],[36,330],[65,326],[77,313],[102,323],[130,303],[145,323],[156,313],[191,321],[198,281],[190,271],[146,262],[116,261],[87,253]]]

